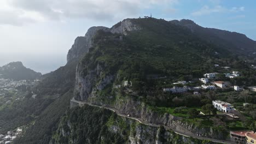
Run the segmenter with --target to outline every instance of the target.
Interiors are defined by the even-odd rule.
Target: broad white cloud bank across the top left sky
[[[0,25],[85,18],[117,20],[137,16],[154,5],[176,4],[178,0],[1,0]]]

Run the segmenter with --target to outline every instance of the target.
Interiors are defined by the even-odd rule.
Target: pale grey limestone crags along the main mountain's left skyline
[[[94,41],[93,38],[98,30],[103,30],[105,32],[118,33],[126,35],[129,31],[138,31],[139,28],[136,26],[130,19],[125,19],[122,22],[119,22],[117,25],[112,28],[107,27],[91,27],[88,29],[84,37],[77,37],[75,39],[73,46],[68,51],[67,62],[72,61],[73,59],[78,59],[89,51],[92,47]]]

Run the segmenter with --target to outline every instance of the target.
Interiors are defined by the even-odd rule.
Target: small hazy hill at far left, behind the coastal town
[[[41,73],[24,67],[22,62],[11,62],[0,67],[0,78],[13,80],[34,80],[39,79]]]

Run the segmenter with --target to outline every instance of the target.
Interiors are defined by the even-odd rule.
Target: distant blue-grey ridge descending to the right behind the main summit
[[[191,20],[173,20],[170,23],[186,27],[201,39],[217,44],[233,53],[253,56],[253,52],[256,51],[256,41],[249,39],[245,34],[201,27]]]

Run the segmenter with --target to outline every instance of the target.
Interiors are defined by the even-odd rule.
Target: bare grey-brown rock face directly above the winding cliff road
[[[193,134],[200,134],[213,139],[224,140],[226,137],[223,131],[213,129],[211,127],[202,128],[199,127],[199,125],[186,123],[182,121],[182,118],[172,116],[168,113],[159,114],[150,110],[144,103],[138,100],[127,98],[115,103],[114,107],[121,113],[131,115],[133,117],[139,117],[148,123],[166,125],[167,127],[183,132],[191,131]]]

